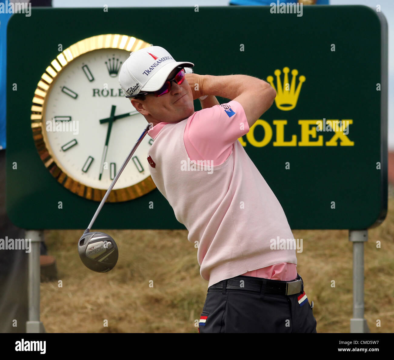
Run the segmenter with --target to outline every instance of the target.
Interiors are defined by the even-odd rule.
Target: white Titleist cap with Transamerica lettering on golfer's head
[[[177,67],[193,67],[193,63],[175,61],[167,50],[160,46],[143,48],[131,52],[119,72],[119,85],[126,97],[139,92],[159,90],[169,74]]]

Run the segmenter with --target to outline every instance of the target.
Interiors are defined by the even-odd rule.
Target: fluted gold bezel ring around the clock
[[[56,155],[52,151],[48,142],[46,142],[46,130],[45,124],[43,126],[43,120],[45,121],[47,96],[52,89],[54,79],[58,76],[59,72],[67,66],[67,64],[87,52],[99,49],[120,49],[132,52],[150,46],[151,44],[128,35],[104,34],[88,37],[72,44],[52,60],[37,84],[31,108],[32,114],[30,116],[35,147],[37,148],[39,156],[50,174],[52,174],[52,176],[61,185],[82,198],[101,201],[107,190],[92,188],[73,179],[67,171],[58,165],[59,161],[56,158]],[[137,184],[112,190],[108,196],[107,202],[121,202],[136,199],[155,188],[156,185],[154,184],[151,175],[149,175],[149,177]]]

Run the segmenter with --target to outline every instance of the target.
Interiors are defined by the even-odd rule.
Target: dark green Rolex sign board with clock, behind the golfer
[[[108,44],[102,38],[95,56],[82,54],[86,39],[103,34],[115,35]],[[387,22],[381,13],[365,6],[305,6],[302,16],[271,13],[270,7],[151,7],[37,8],[30,17],[10,18],[7,212],[13,223],[26,229],[87,227],[108,186],[95,185],[102,153],[85,154],[89,137],[82,133],[91,131],[102,149],[108,126],[98,120],[112,114],[108,99],[116,101],[115,116],[122,107],[134,110],[119,92],[116,63],[127,58],[132,42],[134,48],[162,46],[177,61],[193,62],[199,74],[246,74],[275,87],[275,102],[239,141],[292,229],[366,229],[384,220]],[[74,52],[81,55],[73,58]],[[42,135],[54,117],[65,124],[82,114],[81,135]],[[147,123],[121,121],[132,124],[113,122],[108,149],[127,140],[128,152]],[[130,127],[118,136],[121,126]],[[144,140],[151,144],[149,135]],[[53,157],[45,145],[51,141],[58,150]],[[127,152],[108,159],[107,183]],[[80,163],[79,170],[61,171],[55,158],[63,155],[64,164]],[[149,183],[143,161],[141,155],[130,161],[139,185],[125,180],[101,210],[96,229],[184,228]]]

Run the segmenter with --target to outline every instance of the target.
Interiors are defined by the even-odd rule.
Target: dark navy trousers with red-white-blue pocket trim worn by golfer
[[[261,278],[240,275],[232,279],[256,284],[256,279]],[[298,274],[297,279],[301,279]],[[219,283],[227,284],[226,280]],[[245,290],[248,286],[215,289],[215,285],[208,288],[200,333],[316,332],[316,319],[303,294],[303,282],[301,292],[294,295],[267,294],[263,285],[261,290]]]

